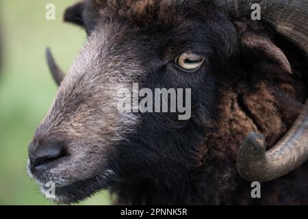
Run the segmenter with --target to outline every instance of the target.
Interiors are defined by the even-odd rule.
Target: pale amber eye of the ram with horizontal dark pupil
[[[183,70],[198,70],[203,64],[205,57],[197,53],[182,53],[175,63]]]

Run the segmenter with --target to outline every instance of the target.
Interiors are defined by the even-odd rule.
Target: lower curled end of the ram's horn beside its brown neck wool
[[[283,139],[266,152],[264,137],[251,133],[238,152],[237,167],[248,181],[270,181],[291,172],[308,159],[308,100]]]

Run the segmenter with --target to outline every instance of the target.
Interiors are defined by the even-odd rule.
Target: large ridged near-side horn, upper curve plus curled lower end
[[[308,0],[221,0],[231,17],[248,15],[259,3],[261,18],[303,49],[308,58]],[[248,181],[270,181],[291,172],[308,159],[308,100],[303,112],[283,137],[266,152],[264,137],[251,133],[238,152],[237,168]]]

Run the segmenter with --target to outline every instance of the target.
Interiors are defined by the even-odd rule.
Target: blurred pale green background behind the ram
[[[0,71],[0,205],[53,205],[27,176],[27,145],[49,110],[57,86],[44,50],[51,47],[67,70],[86,38],[83,29],[62,22],[76,0],[1,0],[3,66]],[[47,3],[55,5],[55,21],[47,21]],[[81,205],[107,205],[99,192]]]

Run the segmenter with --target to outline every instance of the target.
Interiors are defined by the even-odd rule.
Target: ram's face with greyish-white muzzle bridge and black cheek
[[[210,1],[142,2],[86,1],[66,12],[88,38],[29,145],[29,173],[44,193],[54,183],[54,201],[136,179],[171,183],[202,162],[216,75],[227,69],[236,31]],[[190,118],[120,112],[119,90],[132,92],[133,83],[153,93],[190,88]]]

